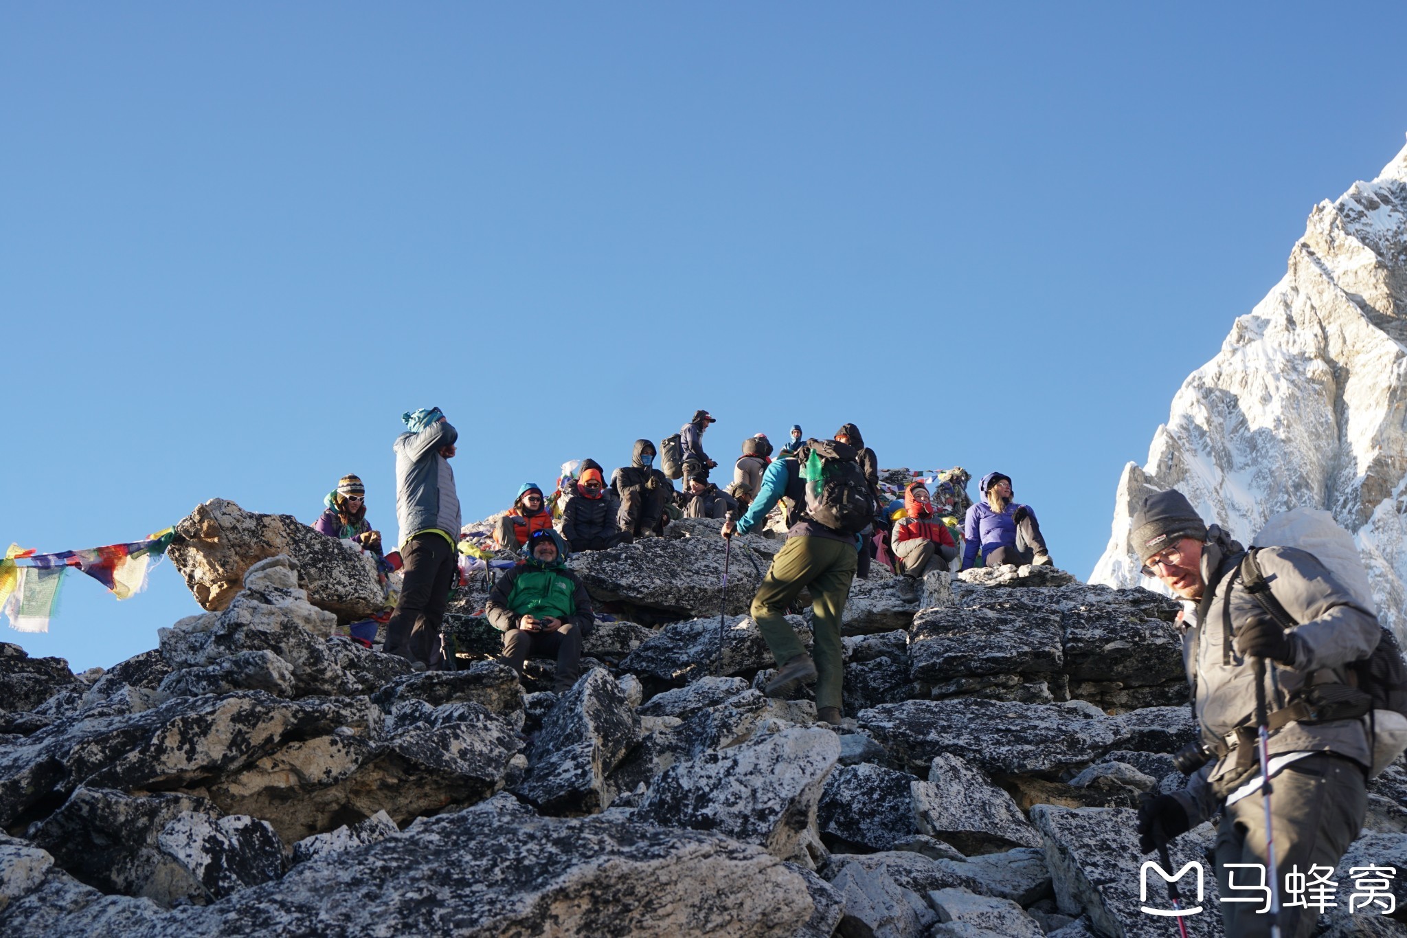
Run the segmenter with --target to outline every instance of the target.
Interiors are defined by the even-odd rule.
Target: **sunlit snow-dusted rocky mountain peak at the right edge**
[[[1285,277],[1183,381],[1147,464],[1124,467],[1089,582],[1157,588],[1128,543],[1148,487],[1242,543],[1283,510],[1331,512],[1407,637],[1407,148],[1314,207]]]

